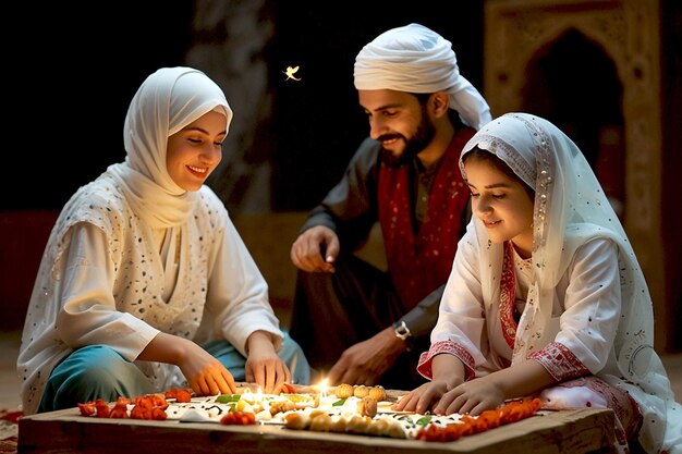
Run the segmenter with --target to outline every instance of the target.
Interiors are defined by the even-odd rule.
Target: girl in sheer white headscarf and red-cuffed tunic
[[[460,241],[431,346],[431,381],[398,409],[608,407],[614,447],[682,452],[682,406],[654,351],[647,285],[628,236],[575,144],[508,113],[464,147],[474,217]]]

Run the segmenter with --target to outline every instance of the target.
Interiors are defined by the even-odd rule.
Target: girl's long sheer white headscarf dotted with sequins
[[[597,177],[579,147],[553,124],[527,113],[507,113],[478,131],[464,146],[462,162],[474,147],[492,152],[535,191],[533,279],[519,328],[512,363],[553,341],[550,332],[553,289],[575,250],[594,237],[619,248],[621,319],[614,340],[617,370],[602,378],[623,388],[644,414],[641,442],[653,449],[666,437],[679,437],[682,408],[674,402],[667,373],[654,351],[654,312],[634,250]],[[479,241],[485,304],[499,300],[502,245],[489,244],[479,219],[472,220]],[[486,244],[488,243],[488,244]],[[496,279],[497,275],[497,279]],[[612,375],[611,375],[612,373]],[[601,375],[600,375],[601,377]],[[644,438],[642,438],[644,437]]]

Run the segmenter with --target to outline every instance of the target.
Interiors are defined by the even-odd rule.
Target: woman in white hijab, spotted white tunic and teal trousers
[[[215,395],[235,380],[265,392],[308,381],[263,275],[204,185],[231,120],[200,71],[163,68],[142,84],[125,161],[71,197],[42,256],[17,359],[26,414],[171,386]]]

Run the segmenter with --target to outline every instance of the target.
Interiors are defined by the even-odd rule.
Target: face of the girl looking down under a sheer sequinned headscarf
[[[520,180],[502,172],[489,159],[464,161],[472,209],[492,243],[511,241],[519,255],[533,251],[533,199]]]

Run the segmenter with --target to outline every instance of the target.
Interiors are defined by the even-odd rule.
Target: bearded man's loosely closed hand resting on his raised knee
[[[291,261],[303,271],[334,272],[341,245],[333,230],[316,225],[303,232],[291,246]]]

